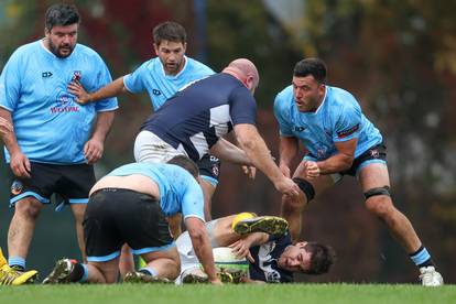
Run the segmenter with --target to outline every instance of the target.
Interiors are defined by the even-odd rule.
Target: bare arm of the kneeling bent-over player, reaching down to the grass
[[[196,217],[188,217],[185,219],[185,226],[187,227],[188,235],[192,239],[195,254],[209,278],[209,282],[219,283],[214,264],[213,247],[210,246],[209,237],[207,236],[207,230],[203,220]]]

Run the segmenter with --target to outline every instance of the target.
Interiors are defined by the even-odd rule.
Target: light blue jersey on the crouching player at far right
[[[274,115],[282,137],[298,138],[310,151],[310,159],[326,160],[337,153],[335,142],[358,139],[355,158],[382,142],[379,130],[362,115],[355,97],[326,86],[326,95],[315,112],[300,112],[293,86],[278,94]],[[307,156],[307,159],[308,159]]]

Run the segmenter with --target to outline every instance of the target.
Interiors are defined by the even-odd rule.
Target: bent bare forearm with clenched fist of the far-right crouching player
[[[358,139],[336,142],[335,145],[338,153],[316,163],[319,169],[319,174],[333,174],[348,170],[354,163],[357,143]]]

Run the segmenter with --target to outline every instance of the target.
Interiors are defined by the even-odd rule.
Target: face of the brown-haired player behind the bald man
[[[163,40],[153,45],[166,75],[176,75],[184,67],[186,43]]]

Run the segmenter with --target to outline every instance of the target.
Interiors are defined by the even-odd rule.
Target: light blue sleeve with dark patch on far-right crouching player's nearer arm
[[[361,109],[359,106],[345,106],[340,109],[334,121],[334,142],[348,141],[358,138],[361,128]]]

